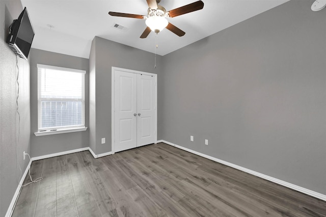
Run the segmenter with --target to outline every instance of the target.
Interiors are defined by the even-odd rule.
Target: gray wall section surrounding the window
[[[87,131],[41,135],[37,132],[37,64],[86,70],[85,74],[85,125],[89,126],[89,61],[85,58],[31,49],[31,153],[33,156],[69,151],[89,146]]]

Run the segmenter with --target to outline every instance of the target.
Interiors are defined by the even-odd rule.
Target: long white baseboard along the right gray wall
[[[159,140],[157,141],[157,143],[166,143],[168,145],[171,145],[171,146],[174,146],[176,148],[179,148],[179,149],[182,149],[184,151],[187,151],[187,152],[191,152],[193,154],[196,154],[196,155],[199,155],[199,156],[202,156],[202,157],[205,157],[207,159],[210,159],[210,160],[213,160],[213,161],[216,161],[216,162],[219,162],[221,164],[224,164],[224,165],[227,165],[229,167],[233,167],[235,169],[238,169],[238,170],[241,170],[243,172],[246,172],[246,173],[249,173],[249,174],[252,174],[254,176],[258,176],[260,178],[263,178],[263,179],[266,179],[268,181],[271,181],[271,182],[274,182],[274,183],[277,183],[277,184],[280,184],[280,185],[283,185],[285,187],[288,187],[288,188],[291,188],[295,191],[298,191],[298,192],[301,192],[301,193],[304,193],[306,195],[309,195],[309,196],[312,196],[312,197],[315,197],[315,198],[318,198],[320,200],[323,200],[323,201],[326,201],[326,195],[323,195],[323,194],[320,194],[318,192],[314,192],[314,191],[311,191],[310,189],[307,189],[307,188],[304,188],[304,187],[301,187],[301,186],[298,186],[298,185],[295,185],[295,184],[292,184],[292,183],[289,183],[289,182],[286,182],[286,181],[283,181],[283,180],[280,180],[280,179],[277,179],[277,178],[274,178],[274,177],[271,177],[271,176],[267,176],[265,174],[262,174],[262,173],[258,173],[256,171],[253,171],[253,170],[250,170],[250,169],[247,169],[247,168],[244,168],[244,167],[240,167],[238,165],[235,165],[235,164],[231,164],[230,162],[227,162],[225,160],[221,160],[221,159],[218,159],[218,158],[215,158],[215,157],[212,157],[212,156],[209,156],[209,155],[206,155],[206,154],[202,154],[200,152],[197,152],[197,151],[194,151],[194,150],[191,150],[191,149],[188,149],[188,148],[185,148],[185,147],[182,147],[182,146],[179,146],[179,145],[176,145],[176,144],[173,144],[173,143],[170,143],[168,141],[165,141],[165,140]]]

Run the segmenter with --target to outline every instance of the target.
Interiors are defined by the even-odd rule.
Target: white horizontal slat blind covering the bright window
[[[84,70],[37,64],[38,131],[85,127]]]

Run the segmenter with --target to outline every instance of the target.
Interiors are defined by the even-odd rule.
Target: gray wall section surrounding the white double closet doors
[[[94,48],[95,44],[95,48]],[[95,52],[94,50],[95,49]],[[90,60],[95,60],[95,70],[92,71],[90,87],[95,88],[96,95],[91,94],[90,101],[96,100],[96,132],[90,146],[96,154],[111,151],[111,72],[112,67],[120,67],[144,72],[155,73],[160,79],[162,69],[161,56],[157,56],[157,68],[154,69],[154,54],[137,48],[129,47],[113,41],[95,37],[92,43]],[[95,57],[94,57],[95,53]],[[95,79],[93,79],[93,76]],[[94,91],[94,90],[92,90]],[[159,91],[158,91],[159,92]],[[158,100],[160,100],[158,98]],[[94,108],[94,106],[92,106]],[[95,117],[95,114],[90,114]],[[91,129],[91,134],[93,133]],[[106,138],[106,144],[101,144],[101,138]],[[95,144],[93,144],[95,142]],[[93,149],[94,147],[94,149]]]

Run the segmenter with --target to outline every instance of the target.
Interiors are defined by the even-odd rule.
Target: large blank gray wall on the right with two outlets
[[[326,11],[313,2],[164,56],[160,137],[326,194]]]

